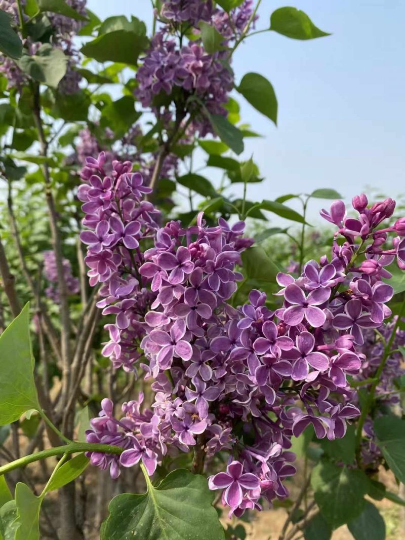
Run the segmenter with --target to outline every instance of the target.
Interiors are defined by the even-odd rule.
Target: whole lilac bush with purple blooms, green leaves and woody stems
[[[370,498],[405,505],[403,206],[248,200],[259,134],[235,98],[274,124],[278,102],[234,56],[328,34],[261,0],[152,6],[147,36],[85,0],[0,0],[0,536],[242,540],[242,515],[282,507],[279,540],[384,540]],[[310,199],[333,201],[325,230]]]

